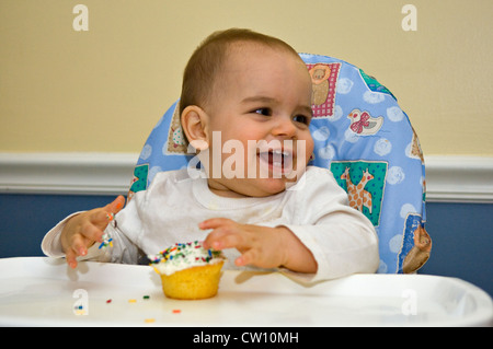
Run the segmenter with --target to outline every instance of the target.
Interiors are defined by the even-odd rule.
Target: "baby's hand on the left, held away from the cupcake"
[[[85,256],[94,242],[102,242],[102,236],[112,214],[117,213],[125,205],[125,198],[118,196],[112,203],[70,218],[61,231],[61,247],[67,264],[77,267],[77,257]]]

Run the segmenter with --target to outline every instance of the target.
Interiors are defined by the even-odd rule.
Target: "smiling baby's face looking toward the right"
[[[206,110],[210,189],[262,197],[296,182],[313,151],[311,94],[293,54],[257,44],[232,49]]]

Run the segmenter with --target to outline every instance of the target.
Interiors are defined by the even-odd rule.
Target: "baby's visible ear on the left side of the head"
[[[209,147],[208,120],[209,116],[196,105],[188,105],[182,113],[183,132],[192,147],[197,150],[205,150]]]

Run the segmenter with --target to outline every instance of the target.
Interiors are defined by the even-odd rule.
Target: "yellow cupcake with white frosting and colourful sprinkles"
[[[195,241],[175,244],[148,256],[161,276],[164,295],[179,300],[200,300],[216,295],[225,258],[220,251],[205,249]]]

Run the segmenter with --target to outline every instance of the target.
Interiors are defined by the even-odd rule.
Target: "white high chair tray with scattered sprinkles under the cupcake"
[[[491,326],[491,298],[466,281],[354,275],[305,286],[280,272],[223,271],[215,298],[163,295],[148,266],[0,259],[2,326]]]

